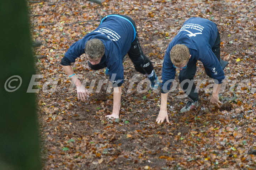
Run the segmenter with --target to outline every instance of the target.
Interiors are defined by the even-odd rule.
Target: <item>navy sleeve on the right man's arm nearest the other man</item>
[[[161,93],[168,93],[170,91],[171,83],[175,78],[175,73],[176,69],[173,66],[170,58],[170,49],[167,48],[162,66]]]

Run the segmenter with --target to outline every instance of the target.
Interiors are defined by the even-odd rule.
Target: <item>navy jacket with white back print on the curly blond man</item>
[[[188,47],[191,57],[188,62],[193,60],[200,60],[204,67],[209,68],[213,79],[216,79],[216,83],[222,83],[225,78],[224,71],[217,57],[212,51],[212,47],[217,38],[218,29],[214,22],[204,19],[204,18],[190,18],[184,22],[180,31],[168,45],[165,56],[164,63],[162,66],[162,83],[161,88],[165,82],[165,88],[167,85],[167,90],[170,90],[171,82],[175,78],[176,68],[170,59],[170,51],[176,44],[184,44]],[[163,93],[163,91],[162,91]]]

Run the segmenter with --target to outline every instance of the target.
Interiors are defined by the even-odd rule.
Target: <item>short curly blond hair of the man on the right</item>
[[[186,45],[177,44],[172,47],[170,52],[170,58],[174,65],[179,66],[184,62],[188,62],[190,58],[190,52]]]

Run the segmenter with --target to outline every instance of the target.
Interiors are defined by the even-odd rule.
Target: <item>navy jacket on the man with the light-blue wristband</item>
[[[72,44],[64,57],[70,62],[75,62],[76,58],[85,53],[86,42],[94,38],[101,40],[105,46],[105,54],[98,65],[109,69],[111,81],[115,83],[113,86],[121,86],[124,82],[122,58],[135,39],[134,26],[127,18],[108,15],[93,32]]]

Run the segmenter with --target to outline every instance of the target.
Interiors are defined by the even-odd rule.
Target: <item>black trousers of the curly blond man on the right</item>
[[[212,47],[212,51],[220,62],[220,34],[219,34],[219,31],[217,33],[217,38],[215,40],[215,43]],[[188,97],[191,98],[193,100],[193,102],[196,102],[198,100],[198,92],[196,89],[196,85],[194,84],[194,76],[196,75],[196,71],[197,71],[196,63],[197,63],[197,60],[189,62],[187,64],[186,68],[183,68],[182,70],[180,70],[180,75],[178,77],[180,80],[182,91],[186,92],[186,95],[188,95]],[[210,69],[204,67],[204,70],[205,70],[206,74],[210,78],[212,78]],[[193,84],[192,84],[192,82],[191,83],[186,82],[186,80],[192,81]],[[191,85],[192,85],[192,87],[191,87]]]

